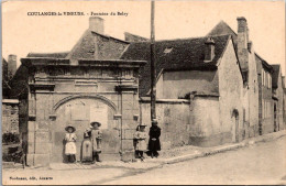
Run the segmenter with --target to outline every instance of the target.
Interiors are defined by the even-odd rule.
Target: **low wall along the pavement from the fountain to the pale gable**
[[[151,127],[150,100],[140,102],[141,122]],[[222,132],[218,97],[157,99],[156,116],[163,149],[182,145],[213,146],[231,142],[231,131]]]

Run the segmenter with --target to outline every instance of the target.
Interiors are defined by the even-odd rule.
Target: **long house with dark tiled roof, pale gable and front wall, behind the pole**
[[[243,77],[231,35],[157,41],[156,114],[163,147],[245,138]],[[131,43],[122,59],[150,62],[150,43]],[[141,116],[150,125],[150,63],[140,69]]]

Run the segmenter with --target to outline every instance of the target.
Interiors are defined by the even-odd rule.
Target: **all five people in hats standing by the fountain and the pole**
[[[84,142],[81,145],[81,162],[101,162],[100,153],[102,132],[100,130],[100,125],[101,123],[99,122],[91,122],[90,128],[85,131]],[[141,161],[144,161],[144,153],[153,158],[157,157],[157,151],[161,151],[161,128],[157,125],[157,121],[152,121],[152,127],[150,128],[148,132],[148,143],[146,143],[147,133],[145,132],[145,128],[146,124],[139,124],[133,138],[135,158],[139,158]],[[67,163],[75,163],[77,153],[77,135],[75,133],[76,128],[73,125],[67,125],[65,130],[67,131],[67,133],[65,134],[65,155],[67,156]]]

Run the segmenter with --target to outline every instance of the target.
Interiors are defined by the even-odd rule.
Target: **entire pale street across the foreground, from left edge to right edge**
[[[16,180],[18,184],[285,184],[285,140],[253,145],[199,157],[162,168],[136,171],[130,168],[95,169],[16,169],[3,171],[3,184],[15,184],[12,177],[34,176],[37,180]],[[144,163],[142,163],[144,164]]]

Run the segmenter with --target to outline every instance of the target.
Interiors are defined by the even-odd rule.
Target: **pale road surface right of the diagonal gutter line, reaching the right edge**
[[[284,136],[237,151],[165,165],[103,184],[285,184],[285,140]]]

